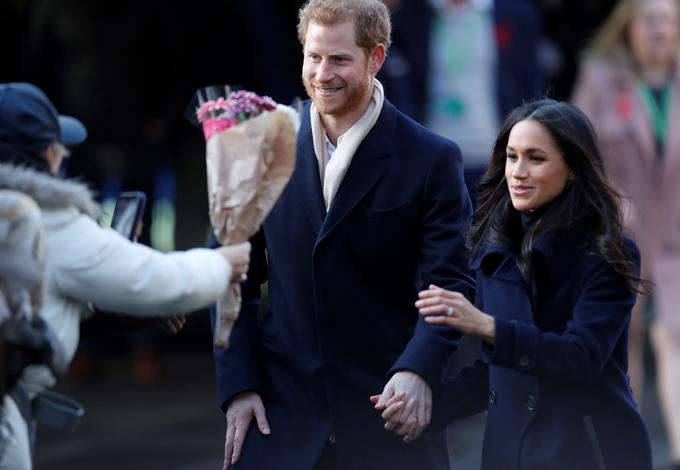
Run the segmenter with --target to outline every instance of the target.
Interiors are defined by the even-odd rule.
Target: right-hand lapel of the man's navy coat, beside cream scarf
[[[385,163],[382,160],[391,154],[390,142],[395,118],[396,110],[385,101],[380,117],[359,145],[340,188],[328,208],[328,215],[319,234],[319,242],[347,217],[385,171]]]

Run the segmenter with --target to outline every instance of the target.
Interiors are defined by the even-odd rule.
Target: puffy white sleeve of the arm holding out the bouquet
[[[102,310],[139,316],[206,307],[231,278],[231,266],[214,250],[161,253],[103,229],[86,216],[53,231],[47,253],[63,295]]]

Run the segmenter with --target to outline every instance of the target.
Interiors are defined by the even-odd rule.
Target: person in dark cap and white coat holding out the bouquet
[[[58,176],[66,145],[81,143],[85,127],[59,116],[45,94],[27,83],[0,84],[0,188],[31,196],[46,232],[47,267],[42,316],[52,327],[66,361],[75,353],[88,304],[136,316],[172,316],[214,303],[230,279],[245,277],[250,245],[163,254],[134,244],[95,218],[99,208],[88,189]],[[28,367],[15,402],[23,422],[13,429],[34,434],[31,401],[56,379],[45,367]],[[22,466],[30,468],[30,447]]]

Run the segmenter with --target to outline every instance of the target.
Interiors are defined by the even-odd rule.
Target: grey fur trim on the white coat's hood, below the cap
[[[94,219],[101,214],[99,204],[85,184],[26,167],[0,163],[0,188],[25,193],[42,209],[73,207]]]

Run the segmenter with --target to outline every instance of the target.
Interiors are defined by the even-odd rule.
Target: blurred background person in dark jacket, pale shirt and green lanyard
[[[456,142],[476,186],[501,120],[542,93],[541,18],[523,0],[400,0],[380,79],[397,108]]]

